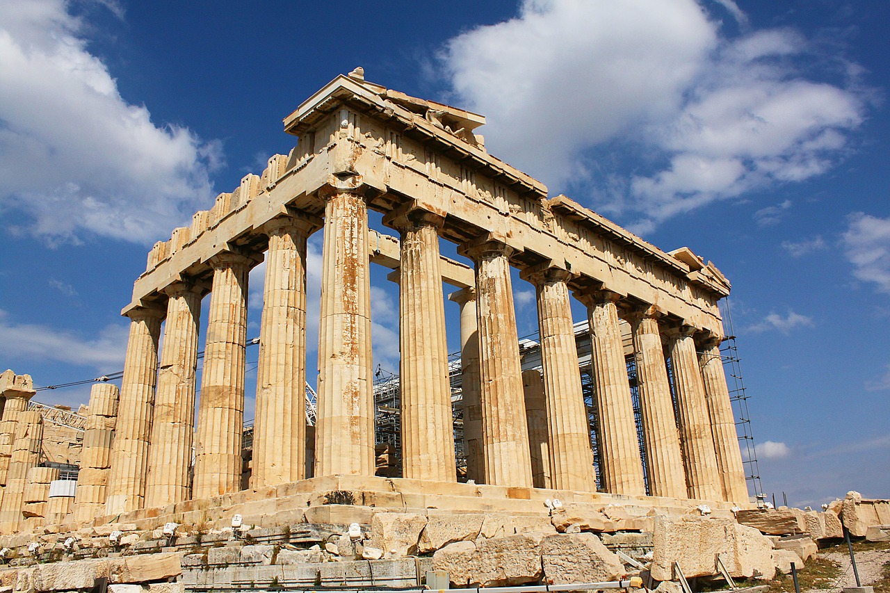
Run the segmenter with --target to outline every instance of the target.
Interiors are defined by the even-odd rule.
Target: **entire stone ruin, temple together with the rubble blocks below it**
[[[369,83],[360,69],[303,102],[284,120],[294,150],[151,249],[123,310],[119,392],[94,386],[82,418],[76,483],[42,463],[45,413],[28,410],[31,378],[6,371],[0,544],[17,568],[0,586],[408,587],[427,569],[455,586],[589,583],[640,573],[641,562],[654,581],[672,581],[676,562],[689,577],[719,574],[717,555],[734,577],[768,578],[789,557],[762,533],[838,537],[840,508],[789,518],[749,500],[719,352],[724,275],[689,248],[661,251],[548,197],[485,150],[474,134],[484,121]],[[369,231],[368,208],[398,238]],[[309,425],[306,241],[322,229]],[[441,256],[441,239],[473,267]],[[247,278],[263,253],[246,463]],[[395,270],[400,290],[398,477],[376,471],[371,264]],[[537,287],[540,372],[522,371],[512,267]],[[459,480],[443,284],[460,308]],[[573,297],[588,312],[598,475]],[[876,513],[880,523],[890,518]],[[798,562],[807,549],[794,549]],[[35,566],[47,560],[68,562]]]

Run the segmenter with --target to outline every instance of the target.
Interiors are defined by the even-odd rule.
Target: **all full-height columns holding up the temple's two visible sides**
[[[368,210],[359,189],[348,184],[329,188],[325,198],[314,475],[373,475]],[[401,232],[404,475],[453,482],[454,438],[438,247],[443,218],[414,210],[390,215],[386,222]],[[282,215],[263,228],[269,250],[257,380],[254,487],[305,476],[306,240],[320,224],[308,215]],[[535,480],[510,248],[497,241],[477,241],[463,246],[462,252],[473,259],[476,270],[475,289],[452,296],[462,305],[469,471],[485,483],[530,487]],[[129,313],[130,340],[107,486],[109,514],[239,490],[247,274],[254,261],[236,253],[210,260],[214,276],[197,433],[193,410],[203,289],[188,281],[176,282],[166,288],[166,312],[143,307]],[[538,288],[550,484],[594,491],[570,312],[570,273],[546,266],[523,273]],[[617,297],[590,291],[578,298],[587,303],[590,313],[603,486],[607,491],[643,494]],[[165,318],[158,370],[158,337]],[[734,475],[738,465],[741,475],[719,354],[716,364],[704,361],[702,375],[692,337],[679,337],[672,343],[683,433],[678,438],[676,429],[671,430],[673,406],[657,321],[650,314],[634,322],[652,493],[684,497],[685,473],[689,496],[747,500],[747,495],[735,493],[738,488],[730,489],[717,473],[726,468],[727,475]],[[720,443],[715,448],[716,440]],[[196,459],[190,479],[192,445]],[[718,454],[724,456],[719,462]],[[738,464],[734,458],[739,458]],[[680,459],[685,460],[685,472],[677,471]],[[732,495],[722,494],[729,491]]]

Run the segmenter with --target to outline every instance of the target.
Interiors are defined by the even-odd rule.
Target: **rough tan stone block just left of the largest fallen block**
[[[541,542],[547,584],[615,581],[624,575],[619,557],[593,533],[559,534]]]

